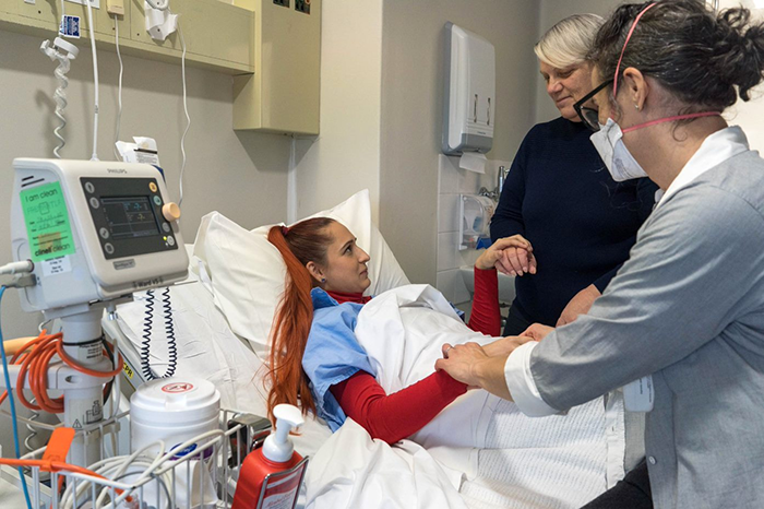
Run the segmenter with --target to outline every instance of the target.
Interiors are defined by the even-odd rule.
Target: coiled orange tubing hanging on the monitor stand
[[[16,381],[16,394],[19,401],[29,410],[43,410],[51,414],[63,412],[63,396],[51,399],[48,395],[48,366],[53,356],[58,355],[64,364],[72,369],[93,377],[115,377],[122,370],[122,355],[119,355],[117,366],[111,371],[95,371],[80,366],[63,351],[63,334],[47,334],[46,331],[26,342],[13,356],[11,364],[21,365]],[[29,403],[24,396],[24,381],[29,377],[29,388],[37,399],[37,404]],[[0,395],[0,404],[8,396],[8,391]]]

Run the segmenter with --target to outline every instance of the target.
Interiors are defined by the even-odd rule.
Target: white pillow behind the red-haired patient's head
[[[344,224],[367,251],[369,295],[408,284],[401,265],[382,234],[371,223],[369,191],[360,191],[337,206],[311,217],[332,217]],[[263,360],[270,351],[270,335],[276,307],[284,293],[286,265],[267,240],[271,226],[248,232],[218,212],[202,218],[194,242],[194,256],[204,263],[215,294],[215,304],[231,330],[249,340]]]

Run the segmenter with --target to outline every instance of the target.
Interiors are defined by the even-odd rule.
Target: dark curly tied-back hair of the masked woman
[[[588,58],[602,76],[614,75],[634,19],[650,3],[619,7],[599,29]],[[764,23],[751,23],[742,8],[716,14],[696,0],[655,3],[629,39],[619,73],[638,69],[688,110],[723,111],[738,95],[749,100],[764,78]]]

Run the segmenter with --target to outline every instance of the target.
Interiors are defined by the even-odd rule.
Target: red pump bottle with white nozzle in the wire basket
[[[282,404],[273,409],[276,430],[263,447],[250,452],[241,464],[231,509],[293,508],[307,466],[289,440],[289,431],[305,424],[299,409]]]

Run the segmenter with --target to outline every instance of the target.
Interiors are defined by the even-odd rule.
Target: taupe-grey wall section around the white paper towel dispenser
[[[435,284],[443,25],[496,47],[492,159],[511,161],[534,111],[537,1],[386,0],[382,29],[380,229],[413,282]]]

